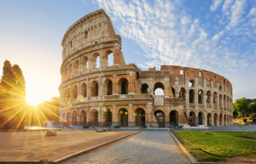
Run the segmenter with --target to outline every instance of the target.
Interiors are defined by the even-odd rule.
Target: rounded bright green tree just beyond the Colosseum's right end
[[[249,101],[246,98],[236,99],[233,110],[238,113],[238,116],[243,116],[249,112]]]

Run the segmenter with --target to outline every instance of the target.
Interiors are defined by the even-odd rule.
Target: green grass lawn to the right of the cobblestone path
[[[256,139],[244,139],[236,136],[256,136],[256,132],[191,132],[177,131],[178,135],[195,144],[202,150],[221,156],[238,156],[256,151]],[[256,154],[248,157],[256,157]],[[225,157],[204,154],[200,161],[226,161]]]

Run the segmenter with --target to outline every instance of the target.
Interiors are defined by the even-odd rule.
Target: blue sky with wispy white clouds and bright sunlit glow
[[[256,98],[255,0],[0,0],[0,76],[8,59],[23,71],[28,102],[59,96],[62,37],[100,8],[126,63],[213,71],[230,80],[234,100]]]

